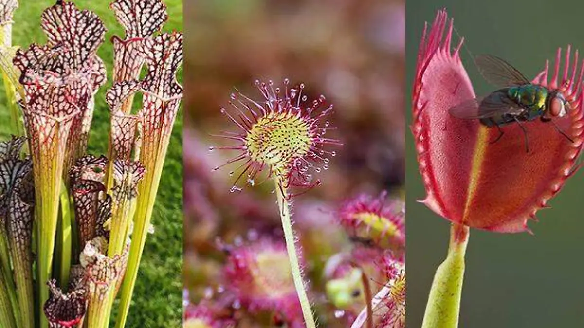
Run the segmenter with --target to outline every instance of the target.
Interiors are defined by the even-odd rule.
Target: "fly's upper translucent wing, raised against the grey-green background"
[[[498,87],[526,85],[531,82],[505,60],[493,55],[478,55],[475,58],[479,72],[485,80]]]

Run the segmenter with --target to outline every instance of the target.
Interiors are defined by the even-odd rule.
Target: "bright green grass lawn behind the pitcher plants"
[[[164,0],[168,6],[169,21],[164,31],[182,31],[182,1]],[[13,44],[28,47],[30,43],[44,43],[46,37],[40,29],[40,15],[44,8],[55,1],[21,0],[13,25]],[[78,0],[81,9],[97,13],[106,24],[106,41],[99,48],[99,56],[106,63],[109,83],[96,96],[92,131],[88,153],[107,153],[107,133],[109,130],[109,110],[105,102],[105,92],[111,86],[113,68],[113,35],[123,36],[124,31],[117,23],[106,1]],[[179,72],[182,81],[182,72]],[[0,85],[0,139],[8,138],[8,108],[5,94]],[[154,235],[148,236],[144,256],[140,264],[138,280],[134,289],[132,306],[127,327],[180,327],[182,325],[182,109],[176,119],[171,144],[166,156],[162,183],[158,190],[157,204],[152,216]],[[112,319],[116,318],[116,313]]]

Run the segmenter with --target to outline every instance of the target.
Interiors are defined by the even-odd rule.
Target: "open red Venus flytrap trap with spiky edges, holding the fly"
[[[451,107],[476,97],[460,61],[462,43],[451,49],[452,24],[446,12],[439,12],[426,28],[418,53],[412,132],[427,191],[423,202],[442,217],[472,228],[526,231],[527,220],[561,189],[580,153],[584,67],[577,51],[571,62],[568,46],[563,64],[558,49],[551,78],[546,64],[532,81],[557,89],[568,100],[571,110],[554,123],[571,141],[554,124],[536,120],[522,123],[529,152],[519,124],[501,127],[505,134],[491,142],[499,136],[497,128],[449,113]]]

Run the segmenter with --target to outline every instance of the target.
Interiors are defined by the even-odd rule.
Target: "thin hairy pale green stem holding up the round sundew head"
[[[292,229],[292,221],[290,218],[290,204],[288,204],[288,193],[284,183],[276,177],[276,195],[278,198],[278,207],[280,208],[280,218],[282,219],[282,228],[284,229],[284,239],[286,239],[286,249],[288,251],[288,259],[290,260],[290,267],[292,269],[292,278],[294,280],[294,287],[300,305],[302,307],[302,315],[304,316],[304,323],[307,328],[314,328],[317,326],[312,316],[312,309],[306,294],[306,287],[301,274],[300,263],[298,261],[298,253],[296,250],[296,241],[294,240],[294,231]]]

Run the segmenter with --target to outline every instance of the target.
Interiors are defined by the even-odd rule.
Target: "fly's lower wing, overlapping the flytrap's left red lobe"
[[[464,120],[474,120],[501,116],[519,115],[523,107],[507,97],[506,89],[498,90],[486,97],[465,100],[449,109],[450,115]]]

